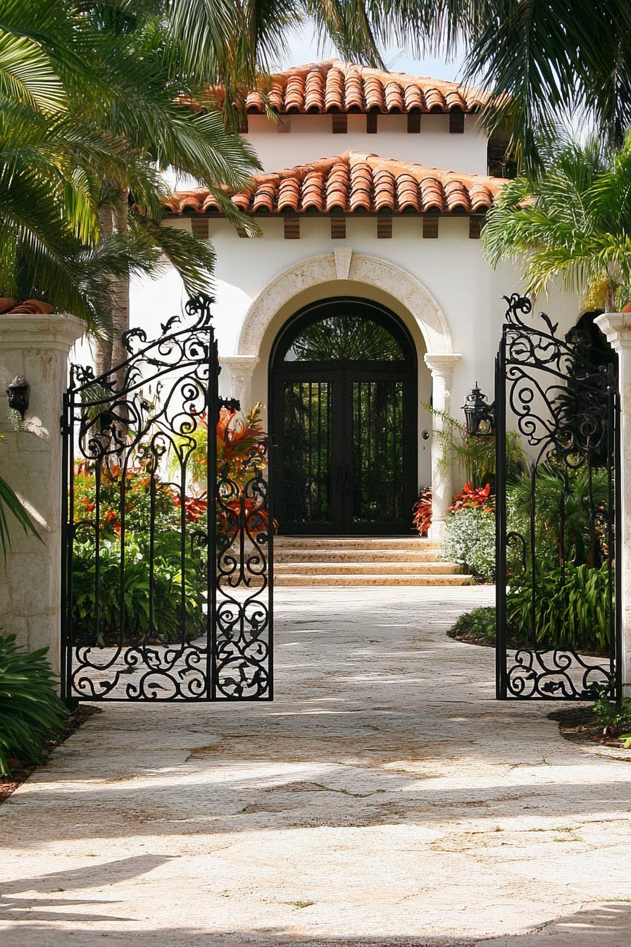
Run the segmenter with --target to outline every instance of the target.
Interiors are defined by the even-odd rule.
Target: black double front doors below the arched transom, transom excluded
[[[416,377],[407,366],[272,373],[272,484],[281,533],[409,533]]]

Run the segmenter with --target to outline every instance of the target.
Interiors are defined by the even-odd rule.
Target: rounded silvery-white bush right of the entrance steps
[[[495,513],[476,507],[454,509],[447,516],[441,552],[474,576],[495,581]]]

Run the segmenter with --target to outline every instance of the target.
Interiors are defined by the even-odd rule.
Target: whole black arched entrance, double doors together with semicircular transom
[[[417,364],[398,316],[355,296],[311,303],[276,337],[269,377],[279,531],[409,533]]]

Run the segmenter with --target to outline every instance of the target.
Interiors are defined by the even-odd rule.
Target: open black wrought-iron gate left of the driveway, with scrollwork
[[[265,456],[218,471],[219,361],[191,321],[123,336],[105,375],[72,366],[61,417],[66,699],[272,699],[272,518]],[[260,467],[256,464],[260,464]]]

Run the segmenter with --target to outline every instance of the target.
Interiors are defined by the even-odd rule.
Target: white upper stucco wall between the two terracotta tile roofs
[[[366,116],[349,115],[346,134],[331,133],[330,115],[288,116],[290,132],[279,132],[267,116],[249,116],[243,137],[263,170],[277,171],[353,150],[374,152],[430,168],[486,174],[486,135],[480,116],[464,116],[464,134],[449,133],[449,116],[421,117],[421,131],[409,134],[404,115],[377,118],[377,134],[366,134]]]

